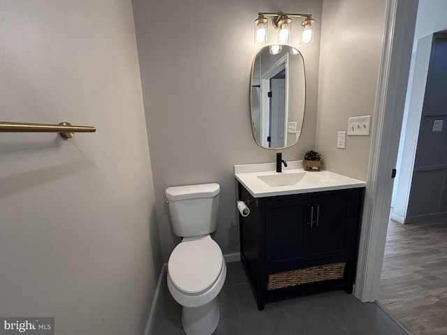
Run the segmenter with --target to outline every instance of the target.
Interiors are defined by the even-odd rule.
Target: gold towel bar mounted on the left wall
[[[0,133],[59,133],[64,138],[71,138],[73,133],[94,133],[95,127],[72,126],[68,122],[60,124],[25,124],[22,122],[0,121]]]

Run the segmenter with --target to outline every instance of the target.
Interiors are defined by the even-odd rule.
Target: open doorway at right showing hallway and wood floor
[[[421,0],[419,27],[437,13],[447,3]],[[418,24],[377,302],[410,334],[447,334],[447,33]]]

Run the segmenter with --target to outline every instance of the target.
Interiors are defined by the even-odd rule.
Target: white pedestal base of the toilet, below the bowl
[[[186,335],[211,335],[220,318],[217,297],[200,307],[182,306],[182,326]]]

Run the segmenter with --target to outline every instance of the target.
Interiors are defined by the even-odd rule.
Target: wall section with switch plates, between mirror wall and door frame
[[[371,115],[374,123],[385,8],[386,0],[323,3],[316,147],[326,170],[362,180],[371,136],[347,136],[346,149],[337,149],[337,131],[349,117]]]

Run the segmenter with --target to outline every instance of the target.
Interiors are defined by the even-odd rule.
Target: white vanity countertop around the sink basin
[[[276,175],[276,163],[235,165],[235,177],[247,188],[254,198],[271,197],[274,195],[289,195],[320,191],[335,191],[345,188],[365,187],[366,182],[327,170],[302,169],[302,161],[287,162],[288,167],[282,168],[281,174],[297,174],[305,172],[297,184],[287,186],[270,186],[258,177]],[[278,173],[279,174],[279,173]],[[281,176],[283,177],[283,176]],[[286,176],[284,176],[286,177]]]

